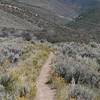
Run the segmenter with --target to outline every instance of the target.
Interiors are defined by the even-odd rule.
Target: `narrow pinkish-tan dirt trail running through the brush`
[[[37,80],[37,95],[35,100],[55,100],[55,91],[51,90],[50,87],[46,84],[48,81],[48,76],[50,75],[50,64],[54,54],[51,53],[42,67],[39,78]]]

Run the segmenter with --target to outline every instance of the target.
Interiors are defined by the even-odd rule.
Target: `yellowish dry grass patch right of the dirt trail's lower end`
[[[68,87],[65,80],[60,77],[57,73],[52,73],[50,77],[52,88],[56,88],[56,99],[67,100],[68,98]]]

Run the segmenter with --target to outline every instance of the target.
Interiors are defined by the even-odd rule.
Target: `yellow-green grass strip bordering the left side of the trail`
[[[50,51],[47,44],[28,43],[24,48],[25,55],[21,57],[18,64],[6,70],[14,82],[11,91],[13,100],[34,99],[37,91],[35,82]]]

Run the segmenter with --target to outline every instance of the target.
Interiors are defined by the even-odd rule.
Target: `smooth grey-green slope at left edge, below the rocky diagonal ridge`
[[[36,26],[32,25],[30,22],[0,10],[0,29],[2,27],[30,30],[36,29]]]

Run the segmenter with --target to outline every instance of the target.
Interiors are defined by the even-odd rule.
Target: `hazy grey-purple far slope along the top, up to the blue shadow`
[[[19,2],[23,4],[28,4],[30,6],[38,6],[45,8],[57,14],[60,17],[71,18],[77,16],[79,6],[75,4],[66,3],[66,1],[61,0],[5,0],[6,2]]]

